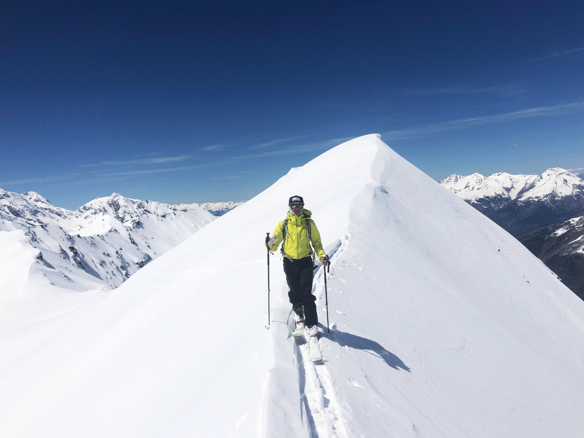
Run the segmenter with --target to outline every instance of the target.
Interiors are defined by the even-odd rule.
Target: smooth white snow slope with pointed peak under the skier
[[[316,364],[289,336],[279,256],[264,328],[263,238],[293,194],[332,256],[335,329],[321,327]],[[323,287],[321,269],[321,322]],[[2,323],[2,436],[584,432],[584,303],[376,134],[291,169],[102,296]]]

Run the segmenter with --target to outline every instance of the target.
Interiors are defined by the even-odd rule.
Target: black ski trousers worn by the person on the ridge
[[[284,257],[284,273],[288,281],[288,298],[292,305],[302,304],[304,307],[304,324],[317,325],[317,297],[312,295],[312,258],[290,260]]]

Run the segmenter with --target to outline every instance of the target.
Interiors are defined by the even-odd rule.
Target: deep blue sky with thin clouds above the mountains
[[[380,133],[434,179],[584,167],[584,2],[6,2],[0,187],[246,200]]]

